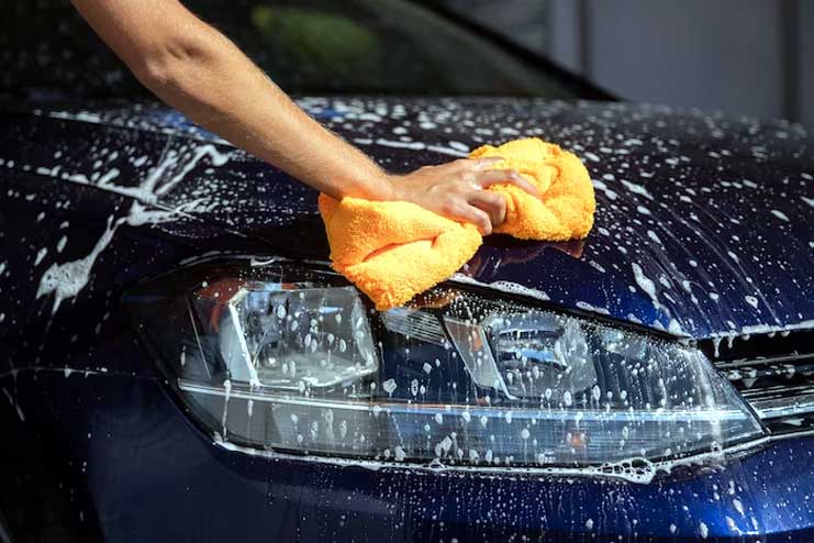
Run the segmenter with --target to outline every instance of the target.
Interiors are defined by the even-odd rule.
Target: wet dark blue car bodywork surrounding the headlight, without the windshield
[[[221,431],[185,405],[123,300],[166,277],[198,284],[212,268],[326,269],[316,195],[150,103],[8,108],[0,135],[8,444],[0,511],[12,533],[36,527],[46,538],[78,541],[814,538],[814,160],[802,128],[599,102],[300,103],[393,171],[520,136],[578,154],[596,188],[588,239],[490,236],[442,290],[698,345],[751,402],[760,432],[723,451],[573,466],[446,456],[441,423],[428,431],[445,453],[433,462],[405,462],[389,450],[296,455],[230,439],[225,412]],[[382,347],[382,372],[399,361],[409,366],[397,346]],[[411,380],[435,386],[439,398],[449,392],[454,374],[438,384],[424,372],[392,374],[390,399],[410,400]]]

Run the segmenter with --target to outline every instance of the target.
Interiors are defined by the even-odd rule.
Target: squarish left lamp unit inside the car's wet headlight
[[[235,384],[327,389],[376,372],[372,335],[356,289],[221,280],[191,296],[200,332]]]

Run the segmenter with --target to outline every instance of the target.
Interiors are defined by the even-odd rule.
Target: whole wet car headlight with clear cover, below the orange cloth
[[[575,466],[762,434],[695,348],[493,295],[439,288],[377,313],[342,277],[289,263],[193,268],[127,307],[182,405],[241,445]]]

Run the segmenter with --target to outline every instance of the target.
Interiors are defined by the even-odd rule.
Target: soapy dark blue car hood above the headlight
[[[526,99],[300,103],[397,173],[522,136],[582,158],[598,200],[586,240],[492,235],[454,281],[694,337],[814,328],[814,142],[799,125]],[[327,259],[312,190],[172,110],[34,114],[18,124],[35,128],[7,136],[54,142],[25,151],[34,173],[194,215],[261,241],[269,254]]]

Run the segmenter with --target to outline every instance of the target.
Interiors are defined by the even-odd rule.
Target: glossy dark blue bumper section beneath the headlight
[[[160,383],[22,372],[26,424],[78,488],[105,541],[807,541],[814,441],[650,484],[600,477],[369,469],[228,452]],[[78,402],[80,398],[82,401]],[[43,401],[47,399],[47,401]],[[621,539],[616,539],[616,536]]]

